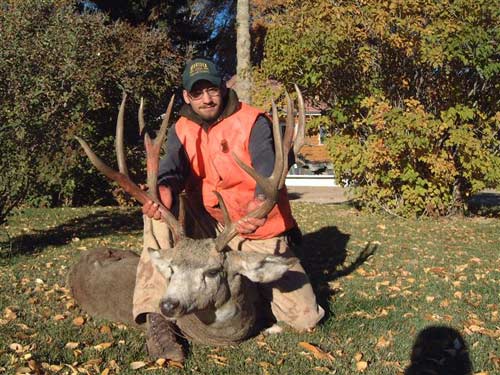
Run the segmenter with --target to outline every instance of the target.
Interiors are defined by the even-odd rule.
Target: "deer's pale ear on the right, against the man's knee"
[[[241,251],[229,252],[228,258],[233,272],[246,276],[257,283],[269,283],[278,280],[298,262],[297,258],[283,258]]]

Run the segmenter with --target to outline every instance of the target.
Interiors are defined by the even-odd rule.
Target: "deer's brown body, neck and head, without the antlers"
[[[152,263],[169,280],[160,311],[192,341],[234,344],[257,329],[260,301],[254,282],[279,278],[296,259],[210,252],[214,248],[214,239],[187,238],[173,249],[149,250]],[[131,251],[89,251],[69,274],[72,295],[92,316],[135,325],[132,299],[138,263],[139,256]]]

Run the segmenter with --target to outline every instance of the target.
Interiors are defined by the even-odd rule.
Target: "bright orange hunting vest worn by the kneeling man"
[[[191,167],[186,191],[188,194],[201,193],[205,209],[220,223],[224,222],[223,215],[214,191],[221,194],[233,222],[247,214],[247,205],[254,199],[256,182],[236,164],[231,153],[234,152],[247,165],[252,165],[248,148],[250,133],[261,114],[258,109],[241,103],[239,110],[207,131],[185,117],[175,124]],[[294,225],[286,188],[283,187],[278,204],[267,216],[265,224],[244,237],[271,238]]]

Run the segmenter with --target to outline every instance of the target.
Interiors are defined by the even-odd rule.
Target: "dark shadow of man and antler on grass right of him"
[[[337,227],[324,227],[304,235],[302,245],[295,249],[323,308],[328,308],[328,299],[336,293],[328,283],[355,271],[377,250],[377,245],[369,243],[356,259],[346,264],[349,239],[350,235]]]

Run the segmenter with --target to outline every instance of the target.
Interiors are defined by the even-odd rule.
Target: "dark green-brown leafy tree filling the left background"
[[[164,34],[110,22],[99,12],[80,14],[70,0],[4,3],[0,7],[2,185],[13,186],[11,194],[22,195],[27,183],[34,205],[89,204],[103,196],[111,198],[112,187],[92,170],[73,136],[86,138],[109,158],[122,91],[132,94],[129,108],[137,108],[144,96],[154,119],[178,84],[179,57]],[[136,115],[132,116],[126,121],[127,133],[137,134]],[[130,140],[137,145],[138,138]],[[138,170],[136,149],[129,154],[132,168]],[[14,195],[11,198],[16,202]]]

